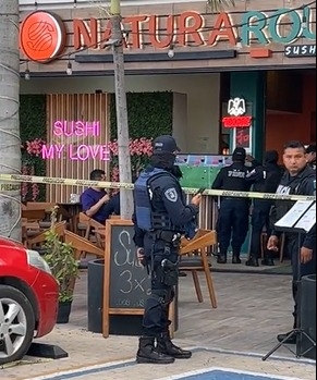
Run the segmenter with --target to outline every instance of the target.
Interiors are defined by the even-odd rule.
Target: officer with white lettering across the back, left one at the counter
[[[244,148],[235,148],[232,154],[233,163],[222,168],[211,186],[214,189],[248,192],[251,183],[246,181],[248,168],[245,166],[246,152]],[[232,263],[241,263],[240,253],[248,230],[247,198],[221,197],[217,222],[220,253],[217,262],[227,262],[227,252],[232,247]]]

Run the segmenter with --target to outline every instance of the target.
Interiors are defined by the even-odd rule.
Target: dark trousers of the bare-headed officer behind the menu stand
[[[293,293],[293,299],[294,299],[294,328],[296,328],[296,318],[297,312],[301,312],[298,310],[298,281],[302,277],[308,275],[308,274],[316,274],[316,250],[313,254],[313,259],[306,263],[301,263],[301,268],[298,271],[298,236],[296,235],[288,235],[288,252],[291,255],[291,262],[292,262],[292,273],[293,273],[293,281],[292,281],[292,293]],[[298,278],[300,277],[300,278]]]

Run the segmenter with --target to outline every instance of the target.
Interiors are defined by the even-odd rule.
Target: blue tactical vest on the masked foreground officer
[[[143,171],[134,184],[134,205],[137,226],[144,231],[172,230],[167,214],[158,214],[151,206],[150,183],[161,176],[171,175],[168,171],[154,168],[153,171]]]

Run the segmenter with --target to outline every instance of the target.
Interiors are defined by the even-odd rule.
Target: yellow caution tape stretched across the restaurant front
[[[74,180],[74,179],[61,179],[52,176],[36,176],[36,175],[21,175],[21,174],[0,174],[0,192],[19,191],[20,185],[13,185],[12,182],[27,182],[27,183],[41,183],[47,185],[64,185],[64,186],[93,186],[102,188],[123,188],[133,189],[132,183],[122,182],[106,182],[106,181],[89,181],[89,180]],[[185,187],[183,191],[186,194],[196,194],[198,188]],[[282,194],[269,194],[269,193],[255,193],[255,192],[231,192],[231,191],[218,191],[218,189],[205,189],[204,195],[211,195],[216,197],[236,197],[236,198],[254,198],[254,199],[283,199],[283,200],[316,200],[316,196],[307,195],[282,195]]]

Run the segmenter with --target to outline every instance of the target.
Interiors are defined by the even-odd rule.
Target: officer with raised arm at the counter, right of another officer
[[[252,159],[252,158],[248,158]],[[257,193],[275,194],[282,176],[282,169],[278,164],[279,154],[277,150],[269,150],[265,154],[265,164],[259,166],[254,160],[255,167],[246,176],[247,181],[253,183],[253,191]],[[252,234],[251,234],[251,254],[245,262],[248,267],[258,267],[258,255],[260,253],[260,236],[264,226],[266,228],[267,236],[270,236],[270,209],[273,203],[271,200],[254,199],[252,211]],[[263,265],[272,266],[272,253],[265,249]]]

